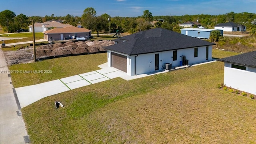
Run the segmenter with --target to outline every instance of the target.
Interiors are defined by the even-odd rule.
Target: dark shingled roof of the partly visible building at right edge
[[[256,67],[256,51],[218,59],[221,62]]]

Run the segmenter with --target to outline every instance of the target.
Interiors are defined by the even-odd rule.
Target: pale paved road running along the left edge
[[[7,71],[4,53],[0,49],[0,144],[25,144],[29,139],[26,139],[28,136],[20,106],[16,103]]]

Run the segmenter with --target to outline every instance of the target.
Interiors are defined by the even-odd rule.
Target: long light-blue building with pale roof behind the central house
[[[211,32],[215,29],[203,29],[203,28],[182,28],[181,34],[185,34],[187,36],[192,36],[195,38],[209,39]],[[219,30],[221,35],[223,36],[223,30]]]

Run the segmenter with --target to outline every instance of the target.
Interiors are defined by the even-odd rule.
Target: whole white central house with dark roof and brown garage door
[[[162,28],[154,28],[116,40],[106,47],[108,66],[129,76],[163,70],[166,63],[198,63],[212,59],[214,43],[179,34]],[[188,65],[188,64],[186,64]]]

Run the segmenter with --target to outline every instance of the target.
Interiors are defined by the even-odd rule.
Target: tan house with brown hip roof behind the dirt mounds
[[[47,30],[43,33],[44,39],[52,41],[69,39],[71,36],[74,36],[75,38],[89,38],[91,36],[92,30],[88,30],[86,28],[77,28],[73,26],[64,28],[54,28],[51,30]]]

